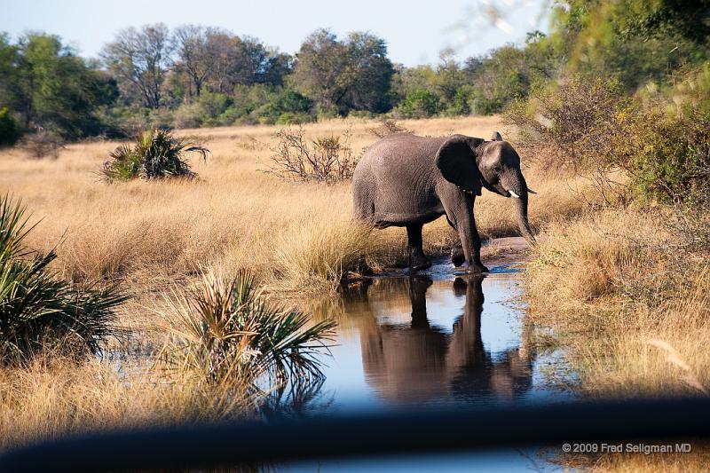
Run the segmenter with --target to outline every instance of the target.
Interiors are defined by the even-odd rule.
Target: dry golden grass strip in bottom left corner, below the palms
[[[151,367],[119,370],[51,354],[0,369],[0,452],[70,432],[215,421],[249,411],[241,387],[204,385]]]

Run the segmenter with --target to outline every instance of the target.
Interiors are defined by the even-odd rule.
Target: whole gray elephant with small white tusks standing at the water
[[[465,259],[470,272],[487,272],[473,216],[483,187],[514,197],[520,232],[533,242],[520,157],[498,132],[491,141],[401,133],[377,141],[362,155],[352,177],[353,210],[356,218],[380,228],[406,227],[409,266],[414,271],[431,265],[422,250],[422,225],[446,215],[461,240],[461,248],[452,252],[454,264]]]

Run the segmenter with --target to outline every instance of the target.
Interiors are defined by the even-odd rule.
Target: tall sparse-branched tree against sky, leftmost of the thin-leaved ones
[[[161,105],[162,83],[171,64],[173,45],[162,23],[123,29],[101,51],[106,67],[115,75],[123,94],[144,106]]]

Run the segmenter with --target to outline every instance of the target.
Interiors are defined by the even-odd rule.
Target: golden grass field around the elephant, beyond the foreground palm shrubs
[[[422,135],[453,132],[488,137],[496,118],[403,122]],[[376,122],[337,120],[304,127],[307,138],[351,131],[356,154],[377,139]],[[42,222],[36,248],[59,247],[59,268],[74,280],[122,279],[141,287],[185,278],[219,264],[255,272],[280,288],[331,288],[340,269],[367,260],[375,269],[404,262],[405,232],[370,233],[351,223],[349,184],[281,181],[262,172],[269,164],[276,127],[185,130],[212,151],[193,162],[199,181],[108,185],[97,171],[117,143],[68,146],[59,159],[33,160],[20,151],[0,153],[0,192],[13,193]],[[577,193],[526,171],[539,194],[530,204],[533,225],[583,207]],[[485,237],[517,234],[513,206],[493,194],[477,202]],[[427,250],[446,253],[457,236],[444,218],[425,227]]]

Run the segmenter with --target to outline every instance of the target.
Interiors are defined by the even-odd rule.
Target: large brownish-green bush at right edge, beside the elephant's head
[[[609,176],[622,169],[637,193],[660,201],[708,201],[710,99],[695,90],[682,106],[663,95],[644,103],[627,96],[615,79],[575,75],[556,89],[535,89],[503,121],[517,128],[518,148],[542,159],[543,168],[596,171],[603,190],[619,184]],[[677,100],[675,91],[670,94]]]

